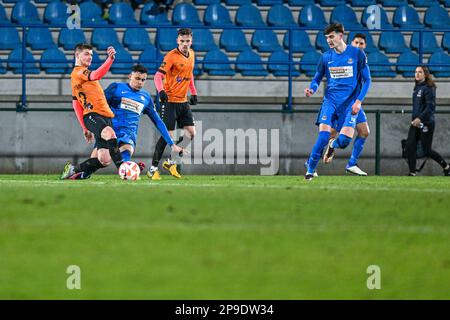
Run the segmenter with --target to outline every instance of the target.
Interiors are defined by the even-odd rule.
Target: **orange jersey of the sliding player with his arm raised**
[[[95,112],[99,115],[113,118],[114,113],[109,108],[105,94],[98,80],[89,80],[89,71],[86,67],[73,68],[70,75],[72,83],[72,96],[83,106],[83,115]]]

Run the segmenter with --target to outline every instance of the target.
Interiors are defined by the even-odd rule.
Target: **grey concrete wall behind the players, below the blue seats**
[[[59,107],[67,107],[59,104]],[[33,105],[30,105],[32,108]],[[215,105],[204,107],[214,108]],[[315,114],[268,113],[204,113],[195,112],[199,134],[191,145],[191,156],[185,157],[183,170],[192,174],[303,174],[303,163],[317,136]],[[369,114],[372,135],[368,138],[360,166],[374,174],[375,115]],[[436,115],[434,149],[450,160],[450,115]],[[406,137],[410,115],[383,114],[381,118],[382,174],[407,173],[406,162],[400,158],[400,140]],[[200,126],[201,124],[201,126]],[[236,131],[242,129],[244,131]],[[247,131],[250,129],[249,131]],[[233,135],[237,135],[238,138]],[[253,140],[242,140],[244,135]],[[150,161],[159,134],[143,117],[139,129],[136,161]],[[241,140],[239,141],[239,138]],[[266,140],[264,140],[266,138]],[[271,142],[271,139],[274,139]],[[60,172],[67,160],[80,161],[89,155],[91,146],[83,139],[73,112],[0,112],[0,173]],[[234,144],[234,147],[231,144]],[[258,155],[268,149],[268,157]],[[277,147],[279,153],[278,159]],[[227,153],[228,150],[228,153]],[[331,165],[320,165],[319,173],[344,174],[348,150],[339,150]],[[249,164],[249,156],[255,164]],[[273,159],[271,160],[271,156]],[[222,160],[220,160],[222,159]],[[274,160],[275,159],[275,160]],[[228,161],[227,161],[228,160]],[[237,164],[238,161],[242,164]],[[271,162],[270,162],[271,161]],[[221,164],[223,163],[223,164]],[[226,164],[232,163],[232,164]],[[271,169],[267,169],[272,165]],[[112,169],[104,170],[112,172]],[[431,163],[425,174],[440,174],[440,167]]]

